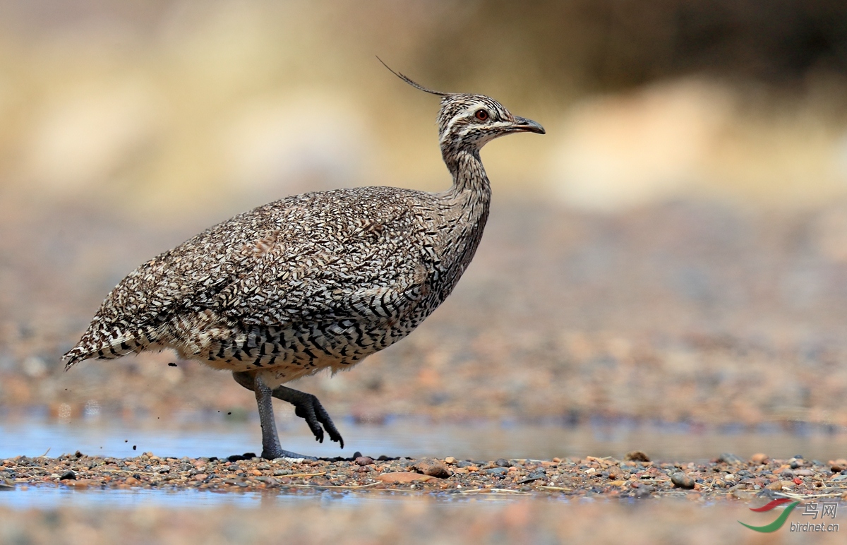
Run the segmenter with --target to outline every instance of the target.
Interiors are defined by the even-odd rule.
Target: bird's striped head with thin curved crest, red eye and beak
[[[379,62],[382,62],[380,59]],[[383,63],[385,68],[391,70]],[[485,95],[439,92],[420,86],[407,76],[391,70],[409,85],[441,97],[438,113],[438,134],[441,152],[479,152],[486,143],[498,136],[514,132],[545,134],[544,127],[533,120],[512,115],[501,103]]]

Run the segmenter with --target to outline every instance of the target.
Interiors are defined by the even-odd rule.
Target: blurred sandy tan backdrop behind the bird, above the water
[[[4,0],[0,410],[253,410],[167,353],[58,359],[120,278],[232,214],[445,188],[437,101],[378,54],[547,135],[485,148],[454,296],[298,387],[363,420],[847,425],[844,28],[835,1]]]

